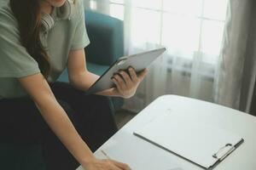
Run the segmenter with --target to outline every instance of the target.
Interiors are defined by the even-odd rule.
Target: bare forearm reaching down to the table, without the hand
[[[49,96],[49,94],[41,96],[36,105],[49,127],[80,164],[83,165],[95,159],[89,147],[80,138],[67,114],[53,96]]]

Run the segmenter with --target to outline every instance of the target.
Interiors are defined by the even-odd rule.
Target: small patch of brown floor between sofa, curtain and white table
[[[129,122],[137,114],[131,111],[120,110],[115,113],[115,121],[119,129]]]

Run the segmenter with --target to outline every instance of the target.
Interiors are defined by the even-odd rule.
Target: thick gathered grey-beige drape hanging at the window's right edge
[[[218,62],[215,101],[235,109],[239,109],[242,80],[247,76],[244,75],[244,61],[252,57],[247,55],[249,28],[255,20],[251,18],[252,7],[253,0],[230,0]]]

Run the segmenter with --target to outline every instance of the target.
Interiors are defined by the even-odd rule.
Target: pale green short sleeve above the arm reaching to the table
[[[0,77],[26,77],[39,73],[38,63],[20,43],[16,21],[0,12]]]

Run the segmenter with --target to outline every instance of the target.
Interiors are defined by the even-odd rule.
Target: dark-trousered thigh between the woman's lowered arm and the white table
[[[57,99],[66,102],[70,106],[73,111],[71,119],[75,127],[82,136],[88,134],[90,136],[88,140],[96,142],[101,134],[102,137],[112,136],[117,131],[110,101],[107,97],[86,95],[84,92],[63,82],[56,82],[51,84],[50,87]],[[63,94],[63,92],[66,93]],[[85,134],[83,135],[83,133]],[[96,150],[97,147],[102,145],[102,143],[90,144],[90,141],[88,143],[91,150]]]

